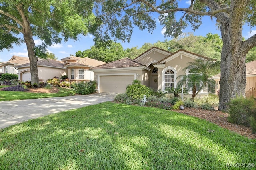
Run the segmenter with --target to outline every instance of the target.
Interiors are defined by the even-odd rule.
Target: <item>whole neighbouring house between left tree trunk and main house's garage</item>
[[[94,73],[89,68],[105,64],[105,62],[98,61],[91,58],[80,58],[70,56],[61,59],[62,61],[54,59],[39,59],[38,77],[40,81],[46,81],[53,77],[60,77],[61,75],[68,75],[70,81],[88,81],[94,80]],[[18,65],[20,81],[31,81],[30,63]]]

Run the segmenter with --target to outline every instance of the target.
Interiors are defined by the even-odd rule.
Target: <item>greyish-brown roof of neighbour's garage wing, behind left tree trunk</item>
[[[24,67],[29,67],[30,63],[22,64],[19,66],[16,66],[15,68],[24,68]],[[64,64],[62,61],[54,60],[54,59],[39,59],[37,61],[37,66],[44,66],[44,67],[57,67],[57,68],[63,68]]]

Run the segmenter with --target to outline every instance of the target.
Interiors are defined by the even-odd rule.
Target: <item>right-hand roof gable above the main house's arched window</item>
[[[166,63],[176,57],[180,57],[185,55],[186,57],[190,57],[190,58],[194,58],[194,59],[199,59],[199,58],[202,58],[202,59],[205,59],[205,60],[208,60],[209,58],[208,57],[204,57],[202,55],[199,55],[199,54],[196,54],[196,53],[192,53],[192,52],[189,52],[185,49],[179,49],[178,51],[176,51],[175,53],[172,53],[171,55],[168,55],[167,57],[165,57],[164,59],[158,61],[157,63],[160,64],[160,63]]]

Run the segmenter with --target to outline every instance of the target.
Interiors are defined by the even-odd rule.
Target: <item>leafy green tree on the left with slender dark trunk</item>
[[[62,38],[77,40],[79,34],[88,34],[94,20],[92,8],[92,1],[1,0],[0,50],[26,43],[31,81],[38,83],[38,57],[47,57],[46,47]],[[43,45],[36,47],[34,37]]]

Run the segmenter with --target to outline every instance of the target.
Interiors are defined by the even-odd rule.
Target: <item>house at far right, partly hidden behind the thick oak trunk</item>
[[[246,97],[254,96],[256,97],[256,60],[245,64],[246,66],[246,87],[245,95]],[[215,91],[217,93],[220,90],[220,73],[215,75],[214,80],[216,81]]]

